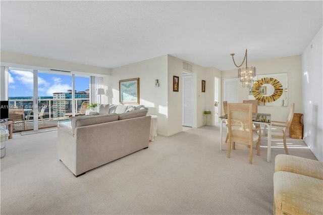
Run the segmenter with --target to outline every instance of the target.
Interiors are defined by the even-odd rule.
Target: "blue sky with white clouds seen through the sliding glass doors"
[[[38,96],[52,96],[54,92],[72,89],[71,75],[38,72]],[[89,77],[75,76],[75,90],[89,89]],[[33,96],[33,72],[9,70],[9,97]]]

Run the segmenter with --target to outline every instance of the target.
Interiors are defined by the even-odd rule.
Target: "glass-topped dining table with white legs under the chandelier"
[[[220,150],[222,150],[222,138],[223,138],[223,129],[222,124],[224,121],[228,120],[227,115],[223,115],[219,117],[221,119],[220,126]],[[271,147],[272,147],[272,124],[271,124],[271,115],[270,114],[260,114],[253,113],[252,114],[252,122],[255,124],[265,125],[267,126],[268,134],[267,134],[267,162],[271,162]]]

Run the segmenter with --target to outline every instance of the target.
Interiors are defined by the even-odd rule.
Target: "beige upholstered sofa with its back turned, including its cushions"
[[[147,148],[151,117],[146,114],[143,106],[105,104],[97,114],[58,123],[59,159],[78,177]]]

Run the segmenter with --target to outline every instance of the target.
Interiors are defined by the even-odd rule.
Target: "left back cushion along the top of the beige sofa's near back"
[[[74,135],[75,128],[80,126],[107,123],[107,122],[112,122],[117,120],[118,120],[118,114],[72,117],[72,134]]]

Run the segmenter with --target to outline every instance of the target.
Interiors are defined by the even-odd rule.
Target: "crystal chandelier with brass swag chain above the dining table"
[[[247,66],[247,49],[246,49],[246,53],[244,55],[243,62],[239,66],[237,66],[237,64],[233,58],[235,53],[231,53],[230,55],[232,56],[232,60],[233,60],[234,65],[236,65],[236,67],[238,67],[238,78],[240,78],[240,82],[241,82],[242,87],[251,87],[253,85],[253,82],[256,81],[255,80],[256,68]],[[244,63],[244,61],[246,61],[246,67],[240,68],[242,66],[242,64]]]

